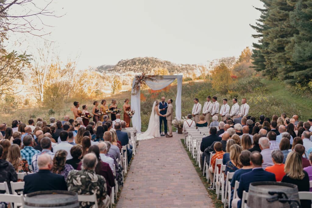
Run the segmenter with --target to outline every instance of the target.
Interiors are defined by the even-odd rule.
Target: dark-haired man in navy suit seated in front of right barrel
[[[250,183],[258,181],[276,181],[274,173],[270,173],[262,169],[262,162],[263,160],[260,152],[251,152],[250,164],[252,166],[252,171],[241,175],[241,180],[239,181],[237,189],[237,196],[239,199],[233,199],[233,208],[241,207],[241,203],[244,203],[240,199],[243,196],[243,191],[248,192]]]

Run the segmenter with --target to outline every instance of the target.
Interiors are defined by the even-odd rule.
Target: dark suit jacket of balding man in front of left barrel
[[[63,190],[67,191],[64,176],[52,173],[49,170],[39,170],[24,177],[24,194],[35,191]]]

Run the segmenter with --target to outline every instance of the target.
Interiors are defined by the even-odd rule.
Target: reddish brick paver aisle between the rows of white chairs
[[[213,207],[181,137],[139,141],[117,207]]]

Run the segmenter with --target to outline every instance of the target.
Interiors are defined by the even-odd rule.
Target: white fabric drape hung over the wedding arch
[[[182,95],[182,75],[166,75],[162,80],[145,81],[146,85],[153,90],[160,90],[170,85],[175,79],[178,81],[177,97],[175,99],[175,113],[177,119],[181,119],[181,95]],[[132,82],[132,90],[135,83],[135,79]],[[133,93],[134,91],[132,91]],[[165,96],[165,95],[164,95]],[[169,99],[169,98],[168,98]],[[160,98],[159,98],[160,100]],[[141,92],[135,95],[131,94],[131,109],[135,110],[135,114],[132,117],[132,125],[138,132],[141,132]]]

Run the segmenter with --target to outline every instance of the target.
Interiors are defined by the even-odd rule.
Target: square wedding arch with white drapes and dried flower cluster
[[[178,81],[177,97],[175,99],[175,114],[177,119],[181,119],[181,95],[182,95],[182,75],[138,75],[132,82],[131,109],[135,110],[132,117],[132,125],[141,132],[141,94],[140,87],[146,84],[153,90],[160,90],[170,85],[175,79]],[[164,95],[165,96],[165,95]],[[160,98],[159,98],[160,99]],[[169,99],[169,98],[168,98]]]

